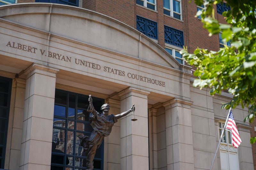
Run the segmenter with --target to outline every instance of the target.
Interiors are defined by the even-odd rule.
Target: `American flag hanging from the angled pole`
[[[232,131],[232,144],[235,148],[237,148],[241,144],[241,138],[238,133],[236,122],[234,120],[234,116],[232,111],[230,111],[229,118],[228,118],[228,124],[227,129]]]

